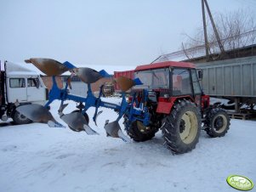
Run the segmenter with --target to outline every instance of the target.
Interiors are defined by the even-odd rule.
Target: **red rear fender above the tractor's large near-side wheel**
[[[174,106],[174,103],[179,99],[189,99],[191,101],[194,101],[194,99],[192,99],[190,95],[185,95],[185,96],[183,95],[183,96],[171,97],[171,98],[160,97],[158,99],[156,113],[170,114]]]

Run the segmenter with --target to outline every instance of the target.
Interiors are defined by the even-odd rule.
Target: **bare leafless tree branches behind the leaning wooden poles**
[[[252,14],[240,9],[227,14],[214,14],[214,21],[225,50],[234,50],[256,42],[256,25]],[[207,18],[208,19],[208,18]],[[219,46],[213,28],[207,20],[208,47],[212,55],[219,54]],[[188,59],[204,53],[203,28],[197,28],[193,37],[185,34],[182,50]],[[213,58],[214,59],[214,58]]]

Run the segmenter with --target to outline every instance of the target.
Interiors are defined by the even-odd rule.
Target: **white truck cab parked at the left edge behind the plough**
[[[0,61],[0,119],[14,124],[26,124],[31,120],[22,116],[16,109],[21,104],[45,104],[48,89],[45,88],[36,71],[5,61]]]

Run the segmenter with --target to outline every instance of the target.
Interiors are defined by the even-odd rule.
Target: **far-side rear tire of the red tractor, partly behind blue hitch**
[[[155,137],[158,128],[145,127],[142,121],[134,121],[128,128],[127,133],[134,141],[143,142]]]

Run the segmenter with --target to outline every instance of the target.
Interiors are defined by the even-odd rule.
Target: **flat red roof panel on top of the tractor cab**
[[[177,62],[177,61],[165,61],[160,63],[154,63],[150,65],[139,65],[136,67],[135,71],[145,71],[145,70],[154,70],[161,69],[165,67],[184,67],[184,68],[195,68],[195,65],[187,62]]]

